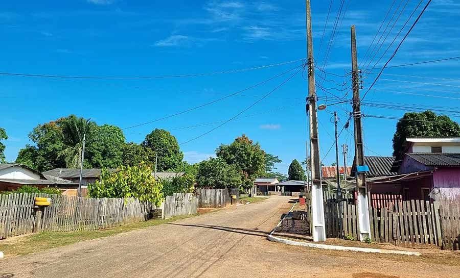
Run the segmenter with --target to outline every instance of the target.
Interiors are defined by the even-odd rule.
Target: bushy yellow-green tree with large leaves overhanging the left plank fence
[[[152,168],[145,164],[122,166],[118,172],[104,169],[101,179],[88,185],[88,194],[93,198],[129,198],[150,201],[160,206],[163,201],[163,185],[155,180]]]

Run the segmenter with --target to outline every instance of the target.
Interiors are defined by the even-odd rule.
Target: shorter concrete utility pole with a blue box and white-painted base
[[[355,127],[356,168],[364,165],[362,140],[361,105],[359,96],[358,58],[356,54],[355,26],[351,26],[352,78],[353,78],[353,119]],[[369,200],[367,199],[366,173],[356,171],[357,212],[359,239],[371,238],[371,222],[369,219]]]

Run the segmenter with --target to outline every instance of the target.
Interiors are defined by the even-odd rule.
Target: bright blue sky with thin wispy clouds
[[[326,71],[338,75],[350,71],[351,24],[356,25],[359,62],[365,61],[364,54],[392,3],[392,0],[378,3],[345,1],[343,19],[337,23],[328,58],[324,59],[340,1],[333,1],[327,24],[329,1],[312,1],[317,65],[322,67],[325,64],[323,62],[327,61]],[[404,22],[419,1],[407,2],[404,9],[406,1],[395,1],[389,16],[392,16],[400,3],[392,21],[396,23],[394,26],[393,23],[389,24],[388,36],[386,40],[386,35],[382,37],[380,49],[379,46],[375,48],[379,52],[369,68],[374,64],[376,67],[382,66],[389,58],[426,0],[422,1],[404,28]],[[401,16],[396,20],[400,11]],[[457,2],[433,1],[390,65],[460,56],[457,30],[459,17],[460,4]],[[381,33],[385,26],[386,23]],[[401,28],[403,31],[391,44]],[[306,56],[303,1],[6,2],[0,8],[0,36],[3,38],[0,44],[0,71],[14,73],[171,75],[249,68]],[[387,47],[388,51],[384,54]],[[381,56],[382,59],[378,61]],[[375,90],[366,96],[366,100],[374,103],[417,104],[417,107],[422,108],[458,107],[458,61],[386,69],[385,75],[374,86]],[[149,80],[74,80],[2,75],[0,127],[10,137],[6,141],[7,160],[14,161],[18,150],[30,143],[27,135],[38,123],[76,114],[91,117],[99,124],[109,123],[126,128],[210,102],[271,78],[297,64],[205,77]],[[366,64],[362,65],[362,68],[365,67]],[[141,142],[151,130],[163,128],[170,130],[179,143],[188,141],[216,127],[218,123],[194,128],[191,126],[233,117],[288,76],[283,75],[189,113],[124,130],[125,136],[127,141]],[[364,74],[363,91],[375,76],[373,73]],[[338,96],[351,97],[349,76],[342,78],[328,74],[326,77],[328,81],[322,82],[317,78],[317,82]],[[343,82],[347,84],[337,86]],[[345,89],[339,91],[341,88]],[[329,96],[327,100],[321,99],[320,103],[337,102],[332,95],[319,88],[317,92],[320,96]],[[292,159],[303,160],[305,157],[307,133],[303,103],[306,95],[307,81],[302,74],[297,74],[242,114],[242,118],[197,140],[182,144],[186,160],[194,163],[206,159],[214,154],[219,144],[230,143],[235,137],[246,134],[269,153],[278,155],[283,160],[278,170],[287,172]],[[324,158],[327,165],[335,161],[333,150],[325,157],[333,143],[334,129],[330,113],[338,111],[340,129],[348,119],[347,111],[350,109],[350,104],[342,104],[319,112],[321,158]],[[363,106],[363,114],[400,117],[404,111]],[[390,119],[364,119],[366,155],[385,156],[392,153],[395,125],[396,121]],[[349,131],[353,133],[352,128]],[[344,131],[339,141],[340,144],[349,144],[348,163],[351,164],[352,135]]]

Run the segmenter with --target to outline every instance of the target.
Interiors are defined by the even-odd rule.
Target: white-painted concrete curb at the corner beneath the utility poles
[[[294,241],[290,239],[278,238],[272,235],[269,235],[267,239],[269,241],[280,242],[280,243],[289,244],[289,245],[306,246],[306,247],[328,249],[328,250],[341,250],[341,251],[354,251],[354,252],[367,252],[367,253],[380,253],[380,254],[398,254],[398,255],[407,255],[407,256],[421,256],[422,255],[420,252],[412,252],[412,251],[348,247],[348,246],[339,246],[339,245],[326,245],[326,244],[301,242],[301,241]]]

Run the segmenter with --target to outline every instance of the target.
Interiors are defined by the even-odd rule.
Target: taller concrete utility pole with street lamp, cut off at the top
[[[308,115],[310,122],[311,219],[313,241],[326,241],[324,221],[323,186],[319,160],[318,114],[316,111],[315,67],[311,30],[310,0],[305,1],[307,12],[307,63],[308,63]]]

